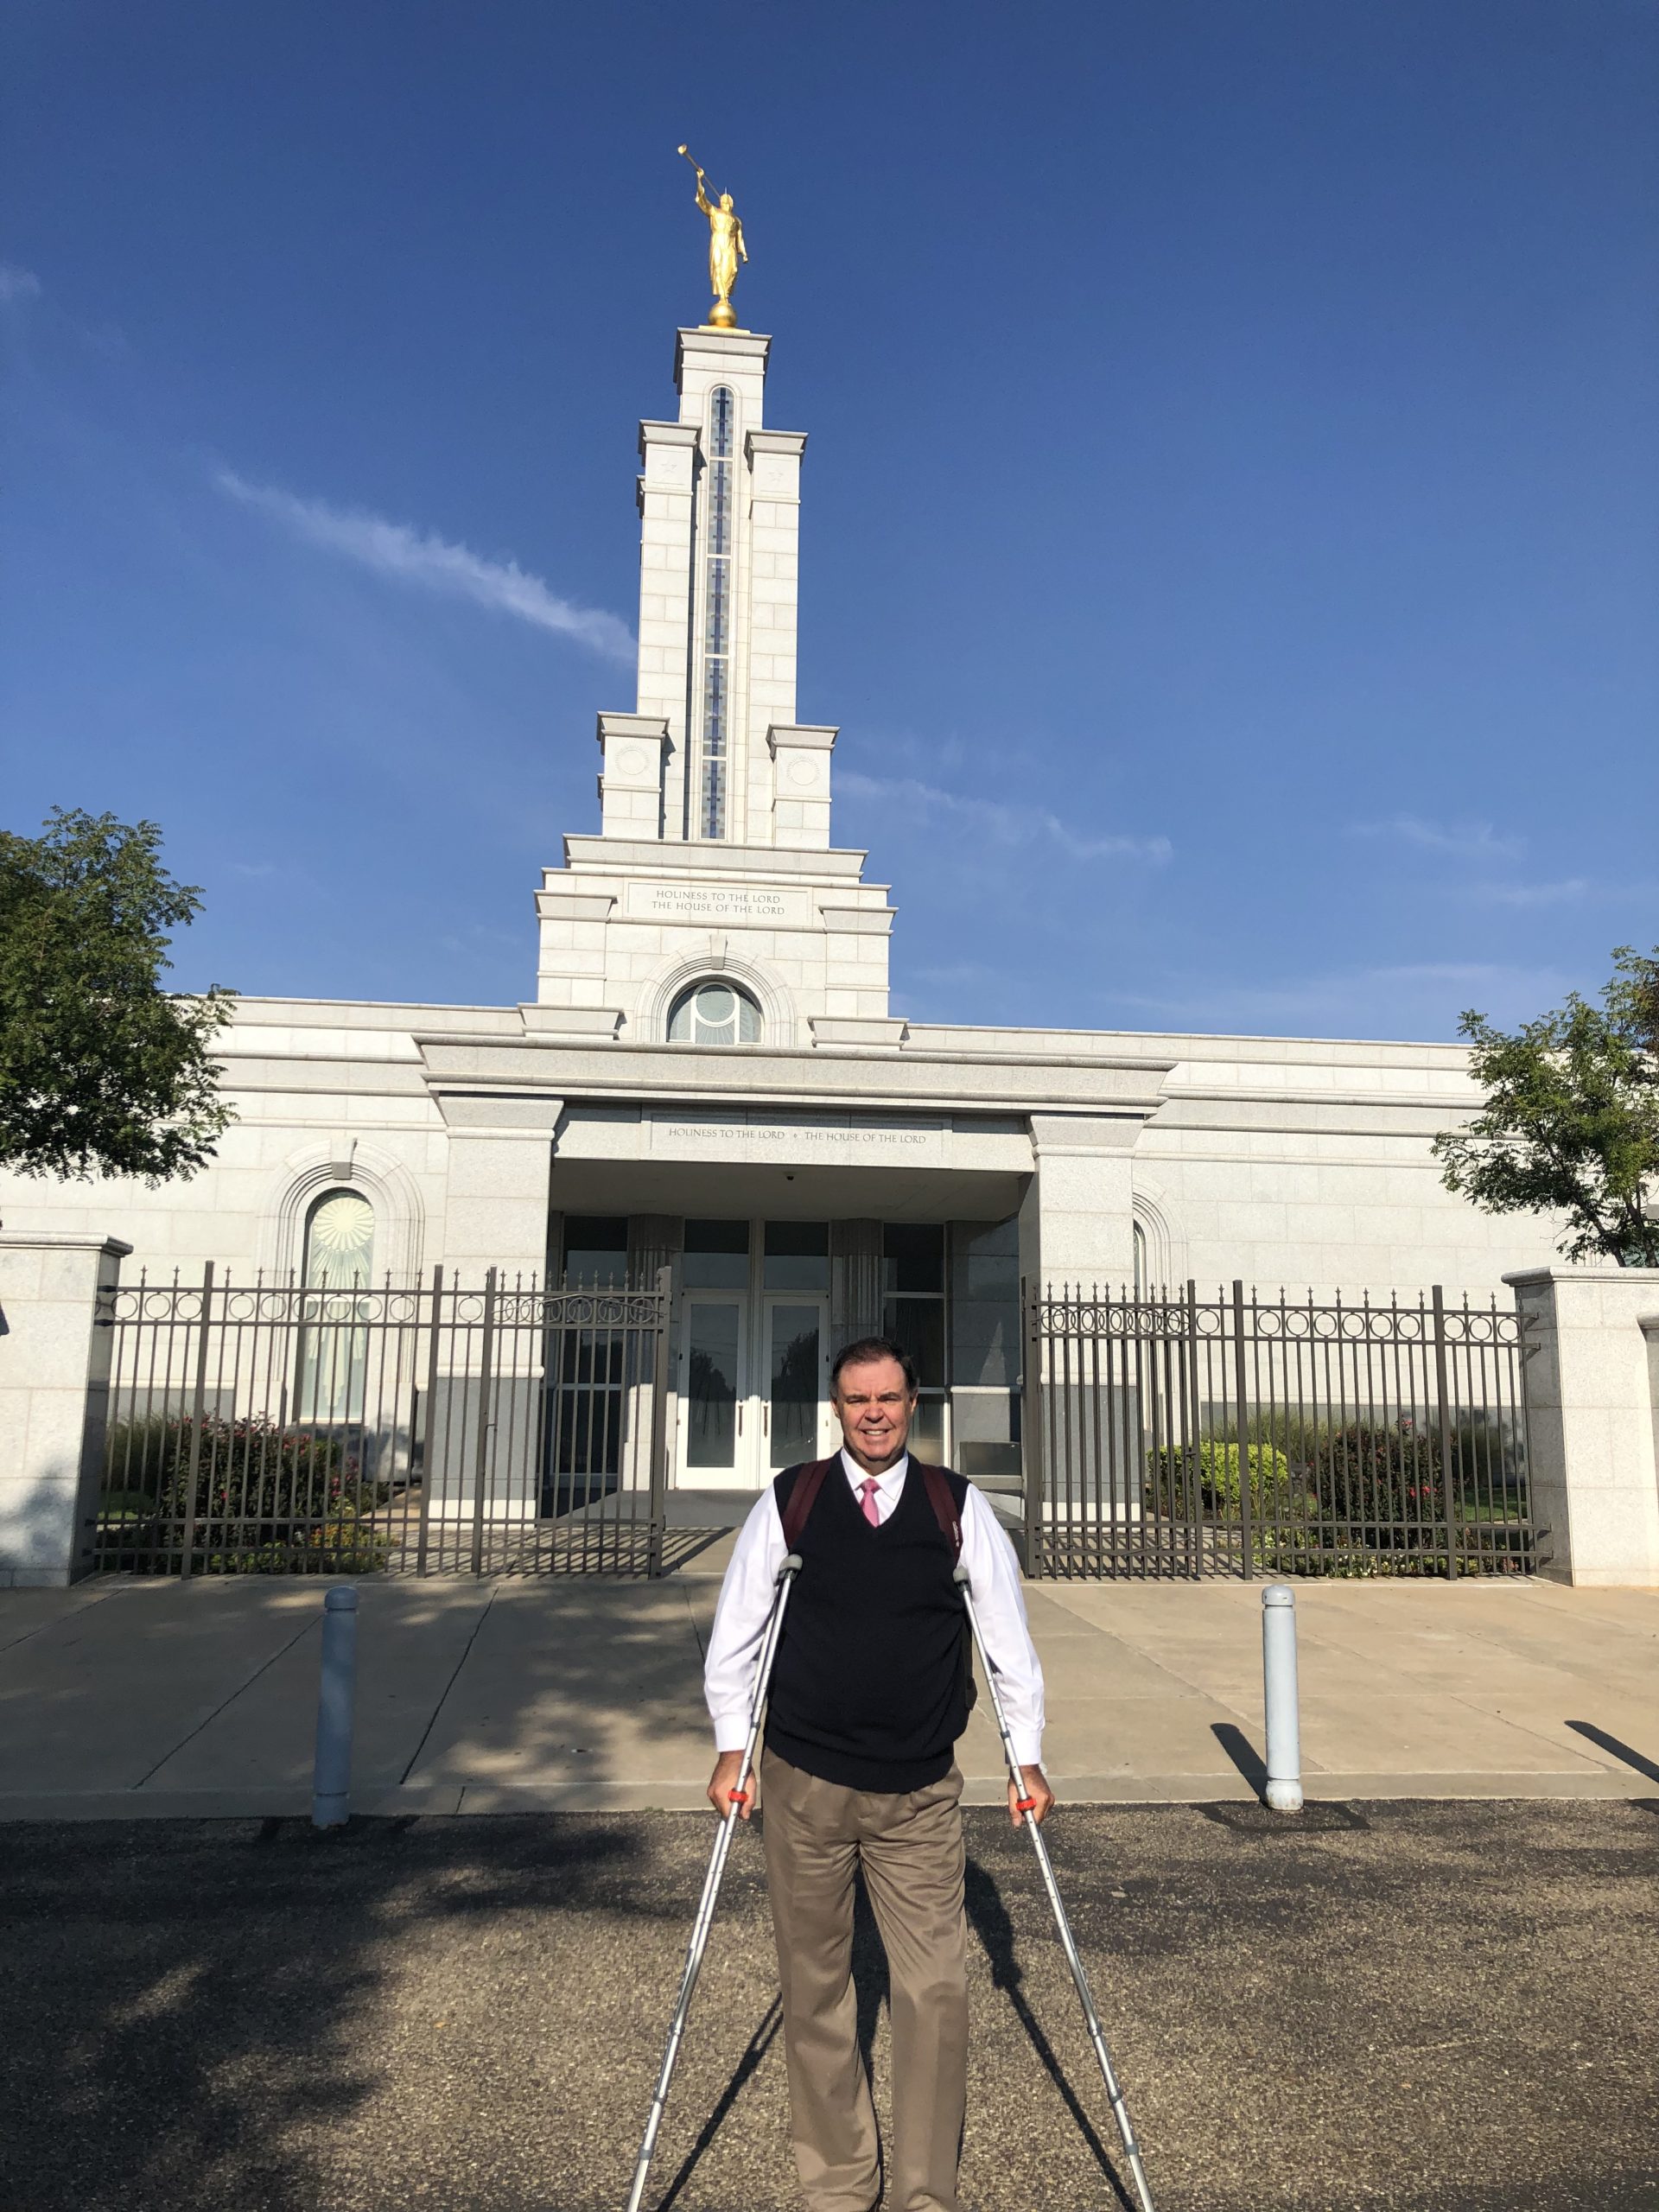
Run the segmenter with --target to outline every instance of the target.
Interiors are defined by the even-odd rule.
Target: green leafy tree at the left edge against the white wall
[[[53,807],[0,830],[0,1166],[195,1175],[232,1119],[208,1057],[234,1004],[161,989],[168,931],[201,911],[155,823]]]

